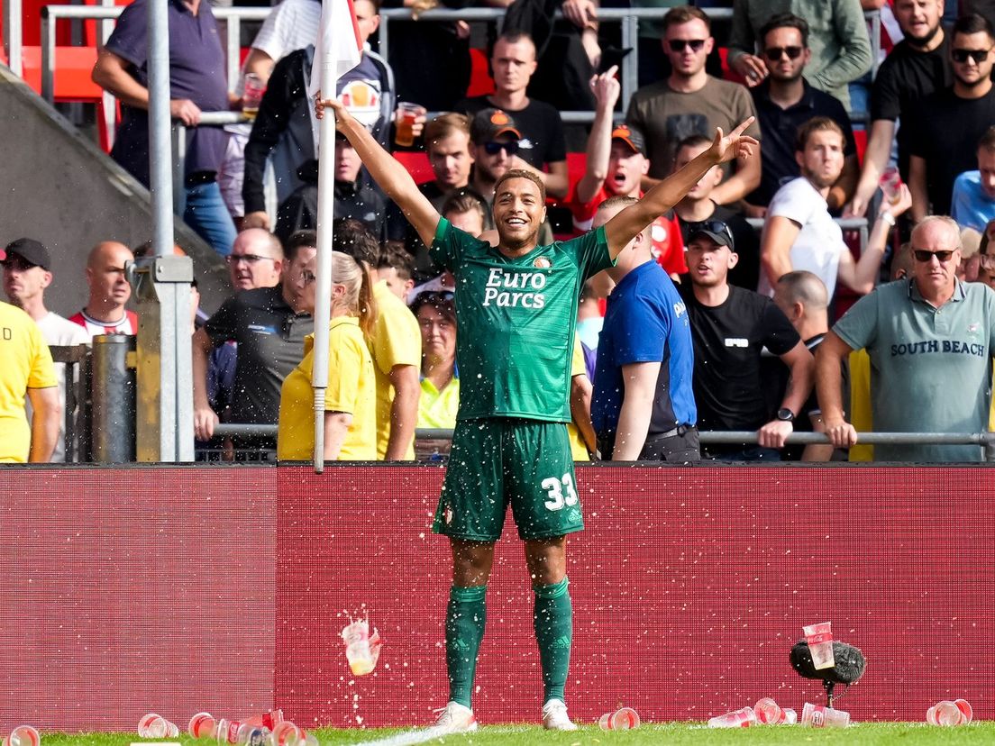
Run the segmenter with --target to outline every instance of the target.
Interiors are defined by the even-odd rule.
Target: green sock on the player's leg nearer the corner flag
[[[449,698],[470,707],[477,672],[477,653],[488,618],[488,587],[453,586],[446,609],[446,669]]]

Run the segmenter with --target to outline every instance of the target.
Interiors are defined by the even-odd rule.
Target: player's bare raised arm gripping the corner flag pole
[[[325,108],[330,108],[334,112],[335,129],[344,134],[355,148],[366,170],[370,172],[383,193],[401,208],[404,217],[418,232],[425,246],[432,246],[436,229],[439,227],[440,215],[425,195],[418,190],[408,169],[384,150],[369,130],[353,118],[339,100],[321,98],[321,93],[318,93],[314,103],[317,118],[322,118]]]

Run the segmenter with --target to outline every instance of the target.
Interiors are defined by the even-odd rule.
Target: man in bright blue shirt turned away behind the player
[[[601,203],[594,227],[635,201]],[[651,244],[643,231],[606,271],[616,284],[598,342],[591,419],[602,459],[698,461],[691,323]]]

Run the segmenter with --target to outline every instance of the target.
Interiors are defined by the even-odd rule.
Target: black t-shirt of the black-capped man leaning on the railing
[[[770,421],[760,373],[760,351],[790,351],[801,337],[774,301],[729,286],[725,302],[702,305],[690,282],[681,294],[695,341],[695,401],[702,431],[759,430]],[[709,449],[709,452],[720,449]]]

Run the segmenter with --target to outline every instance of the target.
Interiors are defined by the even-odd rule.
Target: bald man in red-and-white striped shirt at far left
[[[138,316],[126,310],[131,285],[124,278],[124,263],[133,262],[131,250],[116,241],[103,241],[87,259],[90,299],[70,321],[80,324],[91,338],[100,334],[137,334]]]

